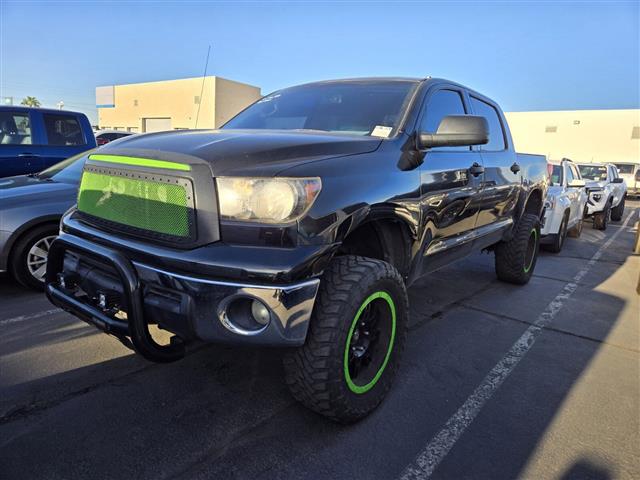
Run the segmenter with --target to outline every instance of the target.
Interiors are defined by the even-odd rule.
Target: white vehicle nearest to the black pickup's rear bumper
[[[550,160],[549,177],[540,243],[545,250],[558,253],[567,234],[579,237],[582,232],[587,192],[580,171],[568,158]]]

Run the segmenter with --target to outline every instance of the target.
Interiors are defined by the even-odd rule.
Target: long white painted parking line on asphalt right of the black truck
[[[623,227],[626,227],[635,211],[631,212],[624,221]],[[522,336],[513,344],[507,354],[491,369],[489,374],[484,378],[482,383],[467,398],[458,411],[453,414],[444,428],[431,439],[425,448],[418,454],[414,462],[409,465],[402,476],[402,480],[429,478],[440,462],[447,456],[451,448],[465,432],[467,427],[473,422],[484,404],[496,392],[498,387],[509,376],[513,369],[518,365],[520,360],[524,358],[531,349],[540,332],[546,327],[558,314],[564,302],[578,288],[578,283],[589,272],[596,262],[600,259],[604,251],[609,248],[616,237],[624,232],[624,228],[620,228],[607,240],[598,251],[591,257],[589,262],[567,283],[562,291],[551,300],[545,310],[538,316],[536,321],[529,327]]]

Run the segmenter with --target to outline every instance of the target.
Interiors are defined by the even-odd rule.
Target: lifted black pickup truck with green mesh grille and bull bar
[[[288,347],[295,398],[351,422],[396,375],[415,279],[489,250],[499,279],[528,282],[546,172],[453,82],[288,88],[220,130],[89,154],[47,295],[157,362],[193,341]]]

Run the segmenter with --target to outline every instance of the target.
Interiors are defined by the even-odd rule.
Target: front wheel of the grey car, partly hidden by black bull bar
[[[57,225],[42,225],[16,242],[9,262],[13,277],[19,283],[34,290],[44,290],[49,245],[57,235]]]

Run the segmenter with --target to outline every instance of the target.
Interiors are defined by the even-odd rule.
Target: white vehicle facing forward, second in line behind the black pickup
[[[612,163],[584,163],[578,165],[587,182],[587,214],[593,216],[593,226],[606,230],[609,220],[622,220],[627,185]]]

